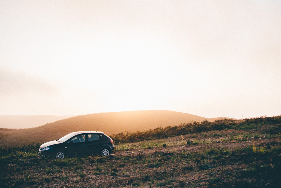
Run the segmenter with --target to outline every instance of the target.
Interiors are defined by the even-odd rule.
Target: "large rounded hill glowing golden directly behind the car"
[[[98,129],[107,135],[112,135],[126,131],[149,130],[160,126],[174,126],[193,121],[214,121],[214,119],[220,118],[208,119],[197,115],[168,110],[142,110],[79,115],[30,129],[0,129],[0,147],[27,145],[32,142],[47,142],[56,140],[68,133],[81,130],[96,131]]]

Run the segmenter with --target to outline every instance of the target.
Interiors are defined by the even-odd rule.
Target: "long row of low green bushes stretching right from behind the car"
[[[167,137],[193,134],[199,132],[205,132],[210,130],[224,130],[224,129],[255,129],[262,124],[281,124],[281,116],[274,117],[260,117],[251,119],[218,119],[214,122],[207,120],[202,122],[193,122],[189,124],[180,124],[176,126],[158,127],[155,129],[137,131],[137,132],[125,132],[111,135],[111,138],[115,143],[130,143],[139,142],[143,140],[155,140]],[[280,128],[278,129],[280,131]],[[219,135],[215,135],[219,136]],[[187,143],[190,144],[190,143]],[[116,144],[117,145],[117,144]],[[164,147],[164,146],[163,146]]]

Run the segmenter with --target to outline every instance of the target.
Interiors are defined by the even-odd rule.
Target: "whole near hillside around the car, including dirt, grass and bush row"
[[[107,157],[42,158],[37,144],[0,149],[0,182],[2,187],[275,188],[281,184],[280,131],[281,116],[221,119],[119,134],[128,143],[116,143]],[[147,140],[172,135],[179,136]]]

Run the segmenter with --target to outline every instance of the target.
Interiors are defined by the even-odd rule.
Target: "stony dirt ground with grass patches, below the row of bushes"
[[[264,127],[266,129],[266,127]],[[246,141],[232,139],[255,133]],[[116,151],[107,157],[65,160],[37,156],[0,164],[1,187],[281,187],[280,137],[259,131],[210,131],[165,140],[208,144]],[[223,141],[224,140],[224,141]],[[157,140],[156,140],[157,141]]]

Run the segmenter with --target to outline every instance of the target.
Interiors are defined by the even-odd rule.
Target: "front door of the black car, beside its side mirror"
[[[86,154],[86,134],[76,135],[66,144],[65,149],[69,156]]]

